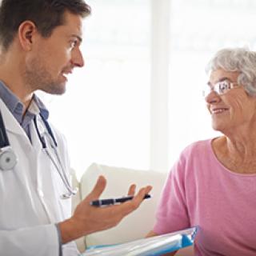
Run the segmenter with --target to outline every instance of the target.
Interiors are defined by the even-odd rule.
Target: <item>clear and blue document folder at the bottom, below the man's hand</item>
[[[117,245],[92,246],[81,256],[150,256],[162,255],[194,244],[198,227],[162,234],[152,238],[142,238]]]

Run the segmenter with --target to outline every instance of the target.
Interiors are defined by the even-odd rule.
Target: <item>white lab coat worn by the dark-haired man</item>
[[[35,104],[34,108],[37,108]],[[71,211],[71,199],[60,198],[67,192],[66,186],[42,150],[34,122],[31,125],[31,144],[1,99],[0,110],[10,145],[18,157],[13,170],[0,170],[0,255],[58,256],[58,232],[54,223],[69,218]],[[44,125],[39,115],[38,126],[43,133]],[[66,142],[57,130],[51,128],[62,166],[70,177]],[[57,161],[52,149],[50,153]],[[63,246],[64,255],[78,255],[74,242]]]

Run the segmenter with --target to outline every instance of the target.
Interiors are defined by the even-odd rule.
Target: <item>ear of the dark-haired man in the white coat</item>
[[[18,27],[18,40],[25,51],[32,49],[34,35],[38,33],[34,22],[25,21]]]

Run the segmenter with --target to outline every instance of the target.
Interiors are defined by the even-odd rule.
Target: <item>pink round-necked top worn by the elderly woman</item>
[[[195,255],[255,256],[256,174],[226,169],[211,141],[188,146],[175,163],[162,191],[154,232],[199,226]]]

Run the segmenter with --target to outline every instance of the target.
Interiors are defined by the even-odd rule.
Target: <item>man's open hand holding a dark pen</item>
[[[58,223],[62,235],[62,243],[70,242],[74,239],[101,230],[107,230],[118,225],[122,218],[130,214],[140,206],[143,198],[150,192],[152,186],[146,186],[134,195],[135,185],[131,185],[128,194],[134,195],[130,201],[120,205],[95,207],[90,206],[90,202],[97,200],[106,187],[106,178],[100,176],[94,189],[88,196],[78,204],[71,218]]]

